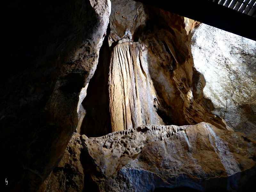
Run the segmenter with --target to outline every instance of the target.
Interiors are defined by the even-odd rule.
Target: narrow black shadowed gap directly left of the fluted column
[[[112,132],[109,112],[108,73],[111,59],[111,49],[108,46],[107,35],[100,48],[99,62],[87,88],[87,95],[82,105],[85,109],[80,134],[87,137],[100,137]]]

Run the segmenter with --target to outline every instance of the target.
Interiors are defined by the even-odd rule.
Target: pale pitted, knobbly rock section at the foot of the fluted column
[[[142,148],[150,142],[171,137],[186,126],[143,125],[137,129],[109,133],[106,136],[86,141],[90,156],[100,165],[101,172],[113,176],[132,161]]]

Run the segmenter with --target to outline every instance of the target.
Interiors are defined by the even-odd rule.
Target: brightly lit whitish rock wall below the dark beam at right
[[[211,100],[208,111],[256,139],[256,42],[201,24],[191,52],[200,72],[194,92]]]

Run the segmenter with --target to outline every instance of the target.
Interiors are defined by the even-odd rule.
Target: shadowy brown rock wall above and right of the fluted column
[[[114,0],[112,5],[109,45],[115,48],[119,43],[138,41],[137,44],[143,47],[140,63],[146,68],[144,72],[152,79],[156,90],[151,101],[148,98],[145,103],[155,106],[158,116],[165,124],[188,125],[205,121],[221,129],[229,129],[223,119],[203,108],[200,103],[203,99],[200,97],[201,93],[192,92],[197,72],[193,68],[188,34],[196,26],[196,22],[185,25],[184,17],[138,2]],[[129,51],[123,54],[129,54]],[[111,70],[112,68],[110,73],[115,73]],[[139,84],[143,82],[139,81]],[[113,93],[110,92],[111,94]],[[143,96],[146,94],[147,92]],[[113,110],[113,105],[115,104],[111,102],[110,114],[122,113],[118,108]],[[145,110],[150,113],[149,109],[150,107]]]

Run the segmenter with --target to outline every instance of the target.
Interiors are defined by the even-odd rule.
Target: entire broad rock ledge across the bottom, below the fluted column
[[[255,155],[256,143],[244,133],[204,122],[144,125],[98,138],[76,133],[46,191],[248,191],[256,176]]]

